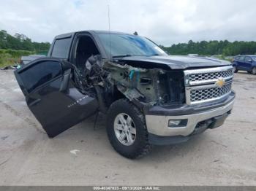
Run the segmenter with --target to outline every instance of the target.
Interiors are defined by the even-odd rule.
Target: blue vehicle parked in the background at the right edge
[[[256,75],[256,55],[237,55],[233,60],[233,71],[247,71],[249,74]]]

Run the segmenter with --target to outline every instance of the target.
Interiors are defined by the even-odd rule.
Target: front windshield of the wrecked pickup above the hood
[[[129,34],[99,34],[99,39],[105,51],[113,58],[132,55],[167,55],[157,44],[141,36]]]

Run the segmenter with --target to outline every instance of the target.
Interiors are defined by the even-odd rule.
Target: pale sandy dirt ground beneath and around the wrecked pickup
[[[221,128],[128,160],[110,146],[104,116],[96,130],[91,117],[49,139],[12,71],[0,71],[0,184],[256,185],[256,76],[236,74],[233,89],[233,114]]]

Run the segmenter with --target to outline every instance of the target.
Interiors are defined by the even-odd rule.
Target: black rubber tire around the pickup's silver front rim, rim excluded
[[[116,136],[114,130],[114,121],[118,114],[128,114],[132,118],[136,128],[136,137],[132,145],[124,145]],[[120,155],[135,159],[148,154],[151,151],[151,144],[148,143],[148,131],[146,130],[145,117],[142,112],[127,99],[119,99],[111,104],[108,110],[107,119],[108,139],[112,147]]]

